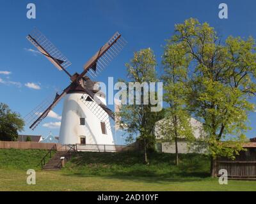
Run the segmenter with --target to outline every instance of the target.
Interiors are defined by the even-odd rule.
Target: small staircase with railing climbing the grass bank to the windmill
[[[61,170],[61,160],[60,157],[65,157],[65,163],[68,161],[67,156],[68,151],[58,151],[54,154],[53,157],[43,166],[42,170]]]

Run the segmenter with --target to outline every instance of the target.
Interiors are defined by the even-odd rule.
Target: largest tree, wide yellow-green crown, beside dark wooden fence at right
[[[248,112],[254,110],[255,42],[232,36],[221,41],[209,24],[190,18],[175,25],[170,43],[190,59],[186,104],[204,124],[214,176],[217,156],[234,159],[243,149]]]

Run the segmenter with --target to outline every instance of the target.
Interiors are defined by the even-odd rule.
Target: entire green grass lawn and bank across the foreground
[[[0,191],[255,191],[256,181],[209,177],[207,156],[150,154],[143,164],[134,152],[79,152],[61,171],[40,170],[42,150],[0,150]],[[36,170],[36,185],[26,184],[26,171]]]

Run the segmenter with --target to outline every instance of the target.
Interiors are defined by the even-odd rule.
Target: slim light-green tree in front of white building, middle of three
[[[164,73],[161,77],[164,82],[164,101],[168,103],[166,116],[161,120],[161,138],[163,142],[175,142],[175,164],[179,164],[178,140],[187,142],[193,139],[193,131],[190,125],[190,115],[186,110],[184,96],[186,94],[186,82],[188,80],[189,58],[180,44],[172,41],[166,45],[163,55]]]

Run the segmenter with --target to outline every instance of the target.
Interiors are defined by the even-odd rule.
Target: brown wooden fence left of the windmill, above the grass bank
[[[38,142],[7,142],[0,141],[0,149],[51,149],[53,145],[57,145],[57,149],[61,149],[60,144],[55,143],[38,143]]]

